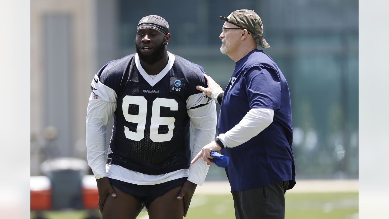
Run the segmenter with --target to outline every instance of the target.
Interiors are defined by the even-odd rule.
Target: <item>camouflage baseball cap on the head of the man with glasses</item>
[[[227,18],[220,17],[222,21],[227,21],[240,28],[247,29],[252,34],[255,41],[263,48],[270,48],[269,44],[263,38],[263,24],[261,18],[254,10],[240,9],[233,11]]]

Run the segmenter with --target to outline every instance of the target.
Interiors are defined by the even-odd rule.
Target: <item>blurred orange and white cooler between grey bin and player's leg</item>
[[[98,209],[98,190],[93,175],[82,178],[82,203],[85,209]]]

